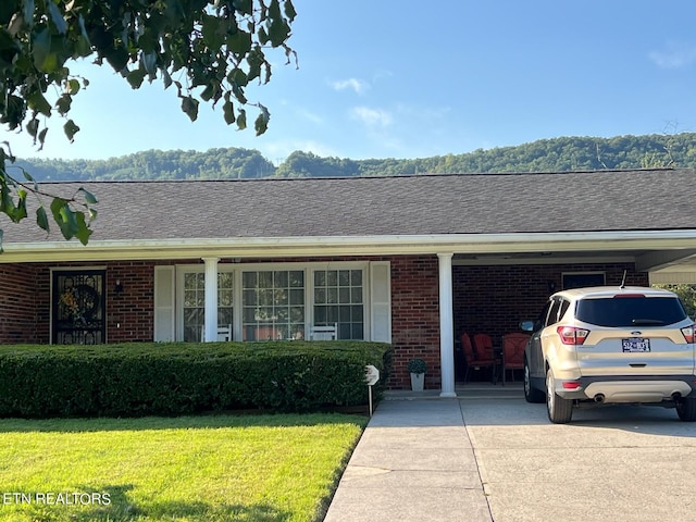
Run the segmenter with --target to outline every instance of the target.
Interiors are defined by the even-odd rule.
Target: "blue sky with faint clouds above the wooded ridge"
[[[197,122],[158,80],[133,90],[109,67],[73,102],[75,142],[49,121],[41,152],[107,159],[148,149],[258,149],[274,163],[303,150],[339,158],[422,158],[559,136],[696,132],[693,0],[294,0],[299,69],[272,54],[273,78],[247,96],[269,130]],[[252,121],[256,114],[249,114]]]

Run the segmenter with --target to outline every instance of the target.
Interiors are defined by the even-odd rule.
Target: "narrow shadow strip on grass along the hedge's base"
[[[293,427],[358,423],[365,415],[345,413],[215,414],[190,417],[142,417],[127,419],[0,419],[0,433],[117,432],[223,427]]]

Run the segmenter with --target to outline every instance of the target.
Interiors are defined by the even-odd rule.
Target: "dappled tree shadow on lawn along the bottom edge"
[[[66,505],[57,501],[37,501],[36,493],[23,492],[25,499],[16,506],[16,512],[29,514],[35,521],[52,522],[126,522],[134,520],[151,521],[200,521],[200,522],[285,522],[291,513],[278,510],[268,504],[252,505],[214,505],[203,501],[153,501],[147,505],[135,505],[128,498],[133,485],[105,486],[97,492],[83,488],[83,500]],[[72,495],[72,494],[71,494]],[[87,500],[89,497],[91,500]],[[18,514],[18,513],[17,513]]]

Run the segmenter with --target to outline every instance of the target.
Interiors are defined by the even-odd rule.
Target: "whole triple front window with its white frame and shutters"
[[[302,339],[337,326],[339,339],[390,340],[389,263],[217,264],[217,326],[235,340]],[[206,319],[202,264],[158,266],[154,338],[200,341]]]

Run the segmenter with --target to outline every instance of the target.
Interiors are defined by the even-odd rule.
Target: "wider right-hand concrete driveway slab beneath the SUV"
[[[674,410],[575,410],[556,425],[522,398],[460,408],[496,522],[696,521],[696,424]]]

